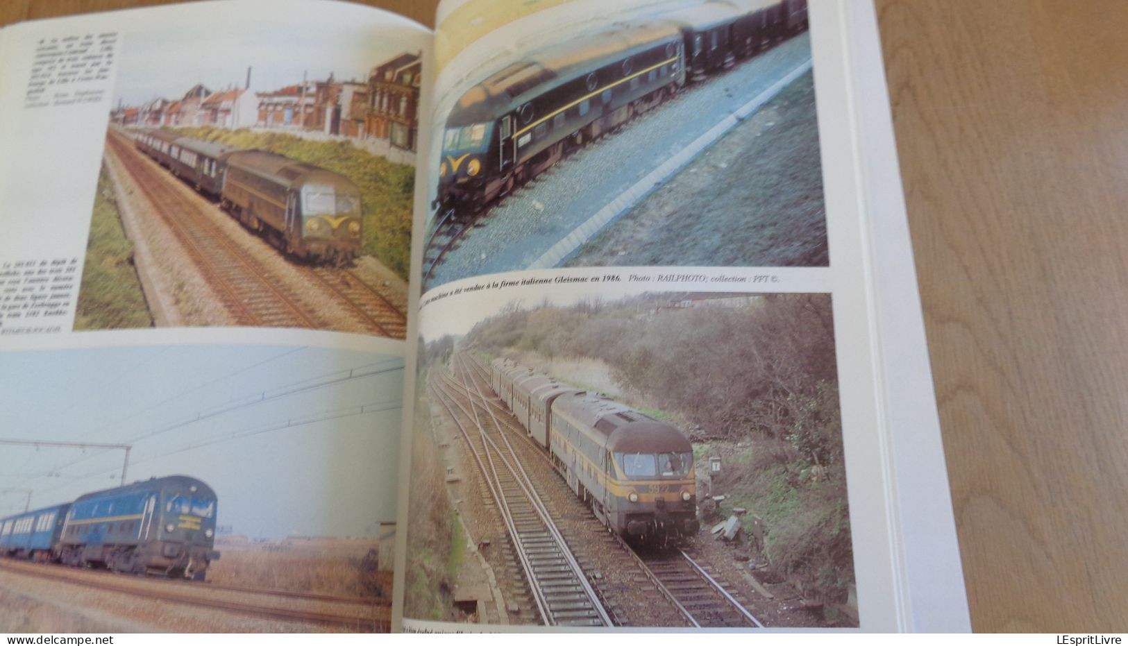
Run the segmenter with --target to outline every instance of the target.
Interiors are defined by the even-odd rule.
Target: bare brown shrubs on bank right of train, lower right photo
[[[714,485],[749,510],[749,537],[760,519],[773,572],[811,598],[845,601],[854,566],[830,298],[695,299],[511,304],[464,343],[487,355],[601,359],[645,402],[633,405],[688,421],[698,460],[723,458]]]

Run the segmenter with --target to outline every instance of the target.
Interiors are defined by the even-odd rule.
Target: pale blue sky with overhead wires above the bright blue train
[[[311,347],[5,353],[0,437],[131,443],[127,481],[200,478],[236,533],[376,536],[395,520],[403,373],[399,357]],[[122,457],[0,444],[0,490],[70,502],[117,486]],[[0,516],[24,501],[0,493]]]

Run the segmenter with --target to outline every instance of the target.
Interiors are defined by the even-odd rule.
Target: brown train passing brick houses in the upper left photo
[[[161,130],[138,131],[134,142],[287,254],[338,266],[360,255],[360,189],[349,178],[273,152]]]

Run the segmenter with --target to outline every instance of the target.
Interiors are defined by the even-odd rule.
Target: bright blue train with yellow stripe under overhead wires
[[[203,581],[219,558],[215,492],[187,476],[0,519],[0,555]]]

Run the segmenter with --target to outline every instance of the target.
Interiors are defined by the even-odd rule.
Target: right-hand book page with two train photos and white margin
[[[841,10],[440,8],[404,629],[911,628]]]

